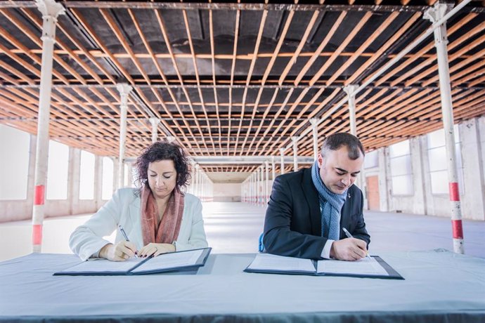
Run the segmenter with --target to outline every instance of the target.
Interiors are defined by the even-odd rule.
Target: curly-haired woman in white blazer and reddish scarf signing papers
[[[190,179],[188,157],[181,147],[153,143],[136,159],[136,171],[140,189],[117,190],[72,232],[70,248],[83,261],[89,257],[124,261],[135,255],[158,256],[207,246],[202,204],[181,192]],[[115,244],[103,239],[115,230]]]

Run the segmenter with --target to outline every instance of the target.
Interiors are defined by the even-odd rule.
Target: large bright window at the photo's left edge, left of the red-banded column
[[[30,136],[0,124],[0,199],[27,199]]]

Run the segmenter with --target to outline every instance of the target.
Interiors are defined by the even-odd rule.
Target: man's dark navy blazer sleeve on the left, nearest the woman
[[[306,203],[303,195],[302,200],[294,201],[290,183],[278,176],[273,183],[264,219],[263,244],[267,252],[280,256],[323,259],[321,253],[327,239],[291,230],[292,221],[310,221],[309,212],[298,214],[301,218],[297,219],[295,205],[302,203]]]

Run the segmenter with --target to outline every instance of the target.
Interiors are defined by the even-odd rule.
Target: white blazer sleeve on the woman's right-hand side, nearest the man
[[[190,213],[188,216],[192,218],[190,235],[187,242],[175,242],[176,251],[206,248],[208,246],[207,238],[205,237],[202,203],[200,203],[200,199],[195,199],[193,205],[188,207],[188,212]]]

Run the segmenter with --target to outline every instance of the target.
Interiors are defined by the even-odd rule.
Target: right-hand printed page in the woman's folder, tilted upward
[[[183,252],[164,253],[155,258],[151,258],[146,263],[143,263],[139,267],[132,270],[132,272],[165,270],[196,265],[203,251],[203,249],[198,249]]]

